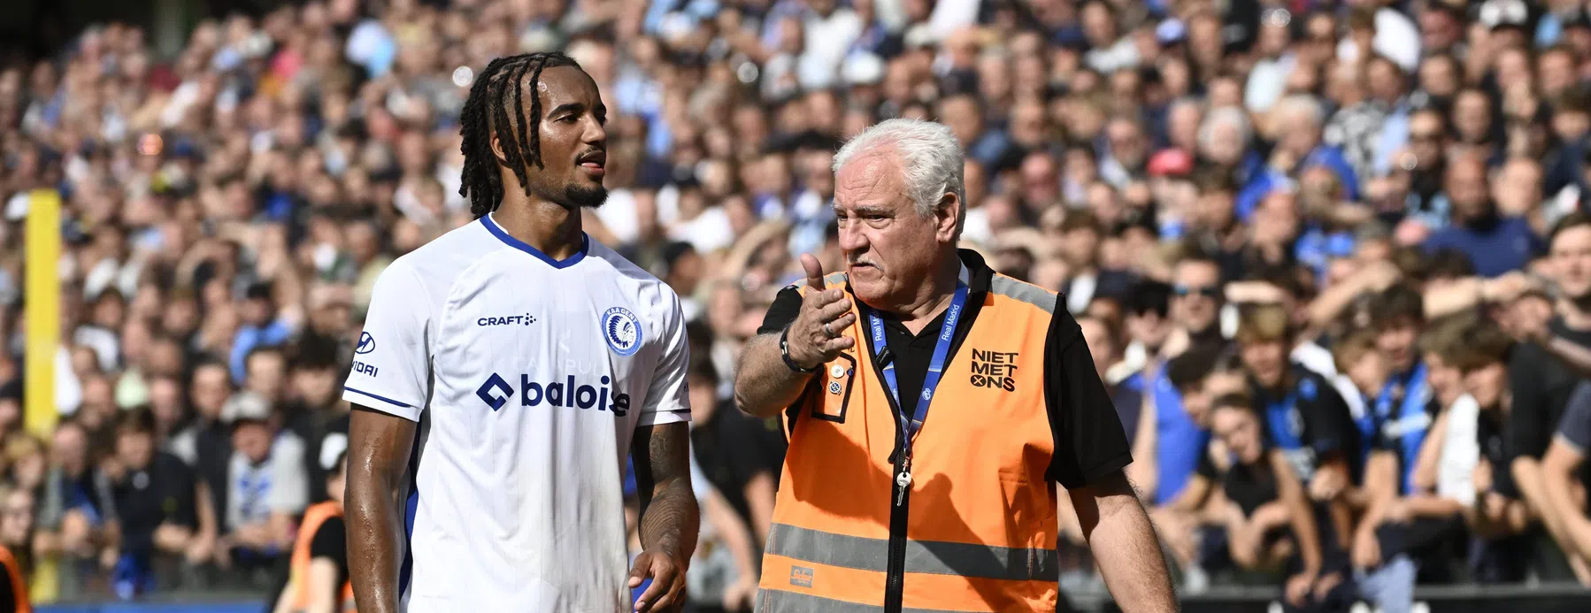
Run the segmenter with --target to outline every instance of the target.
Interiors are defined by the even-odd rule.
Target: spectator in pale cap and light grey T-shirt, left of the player
[[[274,576],[293,546],[294,517],[309,505],[304,443],[280,430],[280,416],[253,392],[228,398],[221,422],[232,428],[234,451],[226,465],[226,505],[218,506],[216,564]]]

